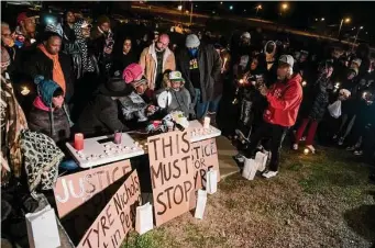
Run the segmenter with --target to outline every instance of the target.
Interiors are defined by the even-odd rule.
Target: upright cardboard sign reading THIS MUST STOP
[[[156,226],[190,210],[195,196],[190,136],[170,132],[147,138]]]

